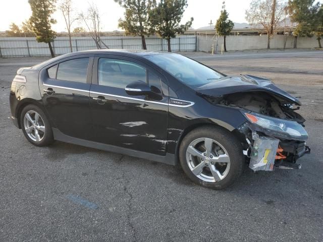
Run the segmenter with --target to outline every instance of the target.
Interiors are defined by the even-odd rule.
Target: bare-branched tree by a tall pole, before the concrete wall
[[[276,0],[253,0],[246,10],[246,20],[251,26],[262,26],[267,33],[267,48],[284,16],[284,5]]]

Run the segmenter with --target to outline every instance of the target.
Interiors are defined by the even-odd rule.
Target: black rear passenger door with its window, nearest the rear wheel
[[[42,71],[43,104],[55,128],[65,135],[88,139],[92,132],[89,90],[93,57],[64,59]]]

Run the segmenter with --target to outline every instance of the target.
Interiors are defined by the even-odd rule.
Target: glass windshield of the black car
[[[223,76],[180,54],[158,53],[143,56],[193,88],[214,82]]]

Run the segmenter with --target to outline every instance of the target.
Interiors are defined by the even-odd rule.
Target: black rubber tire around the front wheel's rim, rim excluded
[[[186,149],[193,140],[198,138],[210,138],[215,140],[227,150],[230,156],[230,170],[228,175],[223,180],[217,181],[216,183],[203,181],[195,176],[188,167],[186,161]],[[245,163],[245,158],[242,153],[242,146],[238,139],[224,128],[208,126],[197,128],[184,137],[179,150],[179,158],[184,172],[192,181],[194,181],[194,183],[211,189],[224,189],[233,184],[234,181],[241,175],[243,164]]]

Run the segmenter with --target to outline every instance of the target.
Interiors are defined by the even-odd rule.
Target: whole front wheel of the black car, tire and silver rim
[[[220,190],[233,184],[241,175],[245,163],[242,150],[241,143],[229,131],[205,126],[184,137],[179,159],[184,172],[194,183]]]

